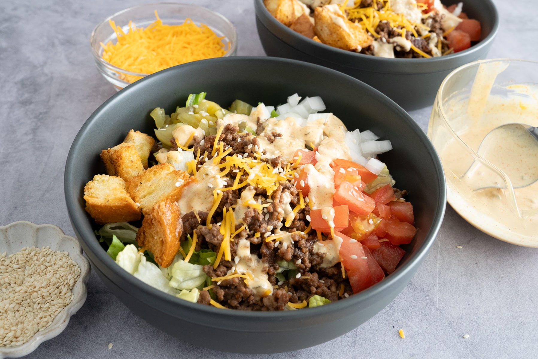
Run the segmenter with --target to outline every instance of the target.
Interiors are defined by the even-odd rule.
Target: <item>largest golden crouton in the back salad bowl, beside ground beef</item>
[[[314,10],[314,24],[314,31],[323,44],[347,51],[360,51],[372,44],[372,38],[362,27],[327,7]]]

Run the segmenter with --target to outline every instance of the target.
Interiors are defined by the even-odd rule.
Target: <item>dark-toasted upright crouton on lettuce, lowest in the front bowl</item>
[[[155,204],[144,216],[136,240],[140,247],[153,253],[155,262],[166,268],[178,253],[182,230],[178,203],[166,200]]]

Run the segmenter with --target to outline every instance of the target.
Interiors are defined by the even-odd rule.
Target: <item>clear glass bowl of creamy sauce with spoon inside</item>
[[[486,135],[507,123],[538,126],[538,62],[482,60],[452,71],[437,92],[428,137],[441,157],[454,210],[497,239],[538,247],[538,182],[514,188],[514,178],[499,166],[510,165],[510,156],[499,156],[495,166],[477,153]]]

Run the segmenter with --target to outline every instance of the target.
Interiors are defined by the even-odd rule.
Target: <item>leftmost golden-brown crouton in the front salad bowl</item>
[[[97,224],[130,222],[140,219],[138,206],[125,190],[120,177],[95,175],[84,187],[86,211]]]

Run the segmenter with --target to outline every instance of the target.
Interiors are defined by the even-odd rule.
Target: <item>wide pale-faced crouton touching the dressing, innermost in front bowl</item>
[[[160,163],[131,178],[125,188],[132,199],[140,204],[142,213],[146,214],[159,202],[177,201],[183,188],[191,181],[196,181],[195,177],[175,170],[170,163]]]

